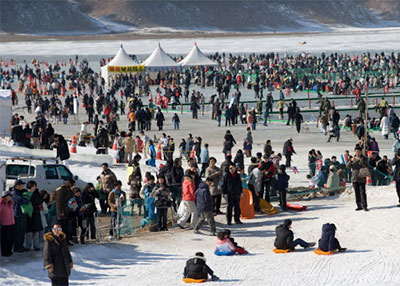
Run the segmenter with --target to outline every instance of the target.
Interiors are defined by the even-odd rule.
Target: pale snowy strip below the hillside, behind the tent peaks
[[[170,54],[186,54],[194,42],[205,53],[392,51],[400,28],[338,29],[336,32],[221,38],[141,39],[130,41],[35,41],[0,43],[0,56],[114,55],[121,43],[130,54],[148,55],[158,43]],[[306,42],[306,45],[299,43]]]

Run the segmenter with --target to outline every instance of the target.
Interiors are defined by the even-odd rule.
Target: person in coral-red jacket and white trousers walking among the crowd
[[[185,228],[185,224],[190,215],[192,219],[190,222],[190,229],[194,229],[198,214],[196,208],[196,196],[195,196],[195,184],[194,184],[195,174],[189,171],[188,176],[184,176],[182,183],[182,202],[179,208],[183,208],[183,214],[178,220],[178,226],[182,229]],[[178,211],[179,212],[179,211]]]

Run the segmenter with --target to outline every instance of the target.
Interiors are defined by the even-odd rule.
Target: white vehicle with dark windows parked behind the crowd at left
[[[48,163],[50,161],[55,163]],[[48,193],[54,192],[67,179],[74,179],[75,186],[81,190],[87,185],[54,159],[10,158],[0,161],[0,193],[12,187],[17,179],[25,183],[35,181],[39,190],[46,190]]]

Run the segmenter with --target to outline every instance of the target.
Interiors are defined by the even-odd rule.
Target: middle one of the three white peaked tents
[[[167,55],[160,44],[142,65],[150,72],[181,70],[181,66]]]

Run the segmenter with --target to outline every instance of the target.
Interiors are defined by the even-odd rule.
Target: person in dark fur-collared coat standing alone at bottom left
[[[68,285],[74,264],[60,224],[54,224],[52,232],[44,235],[43,264],[53,286]]]

